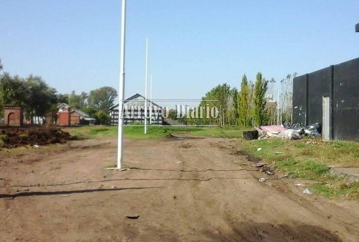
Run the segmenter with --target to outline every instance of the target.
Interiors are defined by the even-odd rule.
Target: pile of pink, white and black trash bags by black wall
[[[299,124],[293,125],[270,125],[256,128],[258,131],[258,139],[279,137],[284,139],[301,139],[304,136],[319,137],[321,127],[319,123],[314,123],[309,126],[301,126]]]

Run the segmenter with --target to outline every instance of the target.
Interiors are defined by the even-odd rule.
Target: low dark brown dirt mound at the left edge
[[[11,128],[0,129],[0,147],[15,148],[24,145],[47,145],[65,143],[74,139],[69,133],[60,128]]]

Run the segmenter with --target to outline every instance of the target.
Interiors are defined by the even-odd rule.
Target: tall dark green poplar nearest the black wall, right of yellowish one
[[[268,89],[268,82],[262,78],[262,74],[257,73],[256,83],[254,85],[254,121],[257,126],[267,122],[267,109],[265,107],[267,101],[265,93]]]

